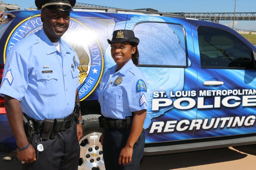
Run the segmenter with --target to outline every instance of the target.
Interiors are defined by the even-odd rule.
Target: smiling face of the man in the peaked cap
[[[56,43],[59,38],[68,30],[70,23],[69,11],[54,11],[44,9],[41,13],[43,28],[51,42]]]

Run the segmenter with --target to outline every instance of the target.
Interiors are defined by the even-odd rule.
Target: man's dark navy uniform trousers
[[[36,149],[35,135],[33,147]],[[77,126],[73,125],[66,131],[58,132],[56,138],[42,141],[44,151],[38,154],[38,159],[33,163],[21,164],[21,169],[26,170],[76,170],[80,158],[80,145],[77,139]]]

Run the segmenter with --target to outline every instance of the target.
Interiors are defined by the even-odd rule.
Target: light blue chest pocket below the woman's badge
[[[122,94],[123,90],[118,86],[111,86],[106,90],[109,106],[111,109],[118,110],[122,107]]]

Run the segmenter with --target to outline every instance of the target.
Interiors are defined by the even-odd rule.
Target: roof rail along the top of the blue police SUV
[[[92,10],[104,10],[108,12],[109,9],[116,10],[116,11],[122,11],[122,12],[135,12],[135,13],[142,13],[142,14],[158,14],[160,16],[165,16],[165,17],[176,17],[176,18],[186,18],[182,15],[177,15],[173,13],[168,13],[168,12],[156,12],[156,11],[143,11],[143,10],[136,10],[136,9],[121,9],[121,8],[99,8],[99,7],[73,7],[73,9],[92,9]],[[149,8],[147,8],[149,9]]]

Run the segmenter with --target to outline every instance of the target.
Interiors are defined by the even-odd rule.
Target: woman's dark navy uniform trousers
[[[145,145],[145,130],[133,146],[132,162],[129,164],[118,163],[121,150],[124,148],[129,134],[126,129],[103,129],[103,159],[106,170],[138,170],[143,157]]]

